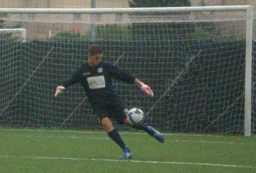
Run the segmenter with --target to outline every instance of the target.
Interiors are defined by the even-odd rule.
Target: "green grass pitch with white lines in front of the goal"
[[[256,172],[256,138],[122,131],[133,153],[102,131],[0,128],[0,172]]]

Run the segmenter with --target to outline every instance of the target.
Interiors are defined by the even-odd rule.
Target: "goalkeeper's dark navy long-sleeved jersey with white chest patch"
[[[68,80],[61,83],[68,86],[80,83],[92,107],[104,106],[106,102],[118,101],[117,94],[113,90],[112,79],[134,83],[135,77],[111,63],[101,62],[98,66],[91,67],[88,63],[76,70]]]

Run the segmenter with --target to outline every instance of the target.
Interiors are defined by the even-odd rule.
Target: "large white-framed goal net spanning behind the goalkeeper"
[[[26,28],[27,42],[1,37],[0,126],[100,128],[79,84],[54,97],[55,86],[86,62],[87,48],[99,44],[103,61],[153,88],[154,97],[145,97],[138,86],[114,81],[126,107],[142,109],[148,124],[239,134],[250,126],[255,133],[255,111],[245,101],[255,100],[247,8],[2,9],[0,20]]]

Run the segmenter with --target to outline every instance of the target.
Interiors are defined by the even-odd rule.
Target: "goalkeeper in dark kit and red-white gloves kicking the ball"
[[[127,120],[123,102],[113,90],[112,79],[135,83],[142,89],[146,96],[153,97],[153,91],[148,85],[139,81],[130,73],[121,70],[113,64],[101,62],[102,53],[103,51],[100,46],[91,45],[88,50],[87,63],[78,68],[68,80],[62,81],[60,85],[57,86],[55,96],[69,86],[80,83],[84,87],[88,101],[95,113],[97,113],[101,125],[105,128],[108,136],[123,149],[123,154],[120,158],[132,158],[131,151],[124,144],[121,136],[110,120],[111,118],[115,119],[119,124],[130,125]],[[134,128],[142,129],[149,135],[155,137],[157,141],[164,142],[163,135],[151,126],[142,124]]]

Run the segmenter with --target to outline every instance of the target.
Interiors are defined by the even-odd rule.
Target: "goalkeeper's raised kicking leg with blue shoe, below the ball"
[[[124,123],[129,126],[132,126],[133,128],[141,129],[142,131],[147,132],[150,136],[155,137],[155,139],[157,141],[164,143],[164,136],[161,133],[159,133],[156,129],[154,129],[153,127],[148,126],[146,123],[143,123],[138,126],[133,126],[129,123],[127,118],[124,120]]]

